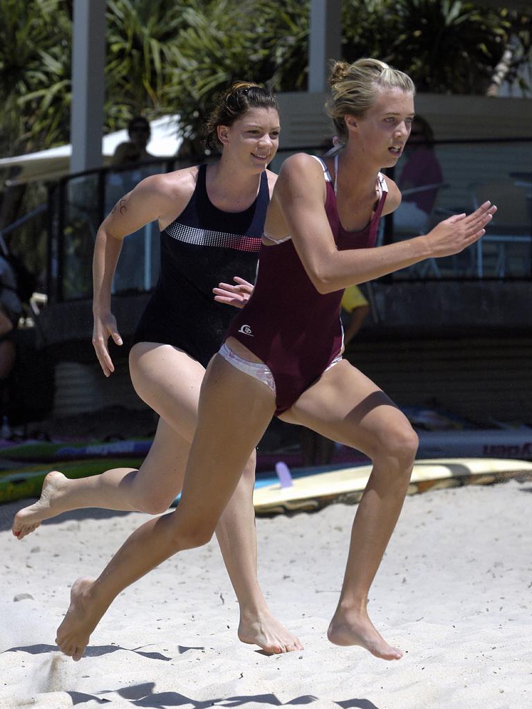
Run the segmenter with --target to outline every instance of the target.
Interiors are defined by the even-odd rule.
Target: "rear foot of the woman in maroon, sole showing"
[[[74,581],[70,589],[70,606],[57,628],[57,646],[76,662],[82,659],[91,633],[106,610],[94,603],[92,586],[92,579],[82,578]]]

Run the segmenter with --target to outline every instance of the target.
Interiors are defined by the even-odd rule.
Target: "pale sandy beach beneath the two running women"
[[[404,650],[395,662],[326,640],[354,506],[257,519],[262,587],[302,652],[238,641],[212,541],[121,594],[74,663],[54,644],[70,584],[98,574],[147,515],[82,510],[18,542],[9,525],[24,504],[0,507],[1,709],[532,705],[531,481],[406,499],[370,596],[375,625]]]

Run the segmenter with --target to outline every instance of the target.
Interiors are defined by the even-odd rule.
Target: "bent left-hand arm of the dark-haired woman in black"
[[[111,285],[122,242],[128,234],[167,213],[171,200],[165,189],[165,179],[165,175],[153,175],[140,182],[116,203],[96,234],[92,259],[92,345],[105,376],[114,372],[108,349],[109,337],[116,345],[122,344],[116,319],[111,313]],[[179,205],[175,201],[173,208],[179,213]]]

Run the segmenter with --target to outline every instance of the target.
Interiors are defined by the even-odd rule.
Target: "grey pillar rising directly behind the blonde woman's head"
[[[308,91],[327,91],[328,62],[341,57],[341,0],[311,0]]]

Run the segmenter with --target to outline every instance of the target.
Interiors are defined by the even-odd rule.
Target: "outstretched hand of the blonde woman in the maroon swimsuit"
[[[478,241],[486,232],[497,207],[484,202],[471,214],[455,214],[437,224],[426,235],[434,257],[452,256]]]

